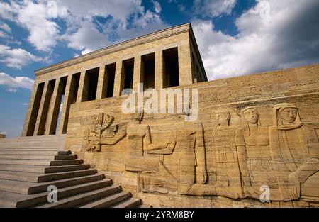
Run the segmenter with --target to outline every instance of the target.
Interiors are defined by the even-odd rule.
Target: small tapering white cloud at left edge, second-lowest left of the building
[[[11,49],[9,46],[0,45],[0,62],[3,62],[8,67],[21,69],[30,62],[40,62],[45,59],[37,57],[30,52],[21,48]]]

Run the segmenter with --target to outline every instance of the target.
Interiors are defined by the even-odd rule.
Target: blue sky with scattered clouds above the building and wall
[[[0,133],[21,133],[34,70],[191,22],[209,80],[319,61],[318,0],[0,1]]]

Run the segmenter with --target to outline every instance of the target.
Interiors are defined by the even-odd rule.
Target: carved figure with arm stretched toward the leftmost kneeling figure
[[[185,121],[189,114],[178,115],[180,123],[174,126],[171,143],[165,149],[148,153],[170,155],[177,152],[178,194],[205,196],[216,195],[215,186],[206,184],[206,150],[201,123]]]

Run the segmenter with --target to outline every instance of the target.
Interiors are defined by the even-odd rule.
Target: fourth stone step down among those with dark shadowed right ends
[[[89,169],[89,165],[66,165],[66,166],[34,166],[34,165],[0,165],[2,171],[13,172],[36,172],[36,173],[52,173],[52,172],[68,172],[74,170]]]

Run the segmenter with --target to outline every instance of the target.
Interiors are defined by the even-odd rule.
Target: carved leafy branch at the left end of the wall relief
[[[114,145],[126,135],[125,124],[112,124],[113,116],[99,113],[84,131],[85,150],[100,152],[101,145]]]

